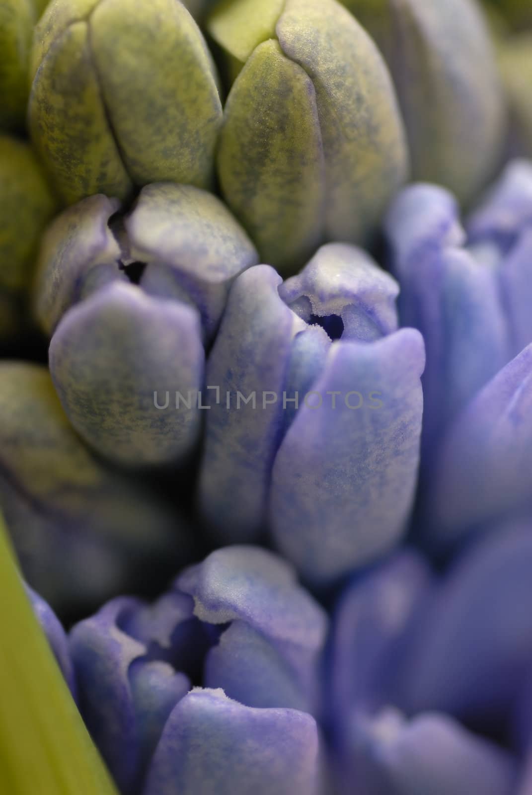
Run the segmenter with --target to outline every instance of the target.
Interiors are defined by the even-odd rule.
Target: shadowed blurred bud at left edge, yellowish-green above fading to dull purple
[[[146,483],[107,466],[68,422],[43,366],[0,363],[0,498],[29,582],[63,611],[190,559],[183,519]]]

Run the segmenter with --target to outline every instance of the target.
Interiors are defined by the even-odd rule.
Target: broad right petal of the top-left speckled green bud
[[[103,0],[90,27],[103,99],[134,182],[208,188],[222,106],[188,11],[176,0]]]

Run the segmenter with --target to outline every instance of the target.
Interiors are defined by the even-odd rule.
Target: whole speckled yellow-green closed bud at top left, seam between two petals
[[[65,203],[125,200],[157,180],[211,186],[222,108],[181,2],[56,0],[37,25],[32,75],[30,132]]]

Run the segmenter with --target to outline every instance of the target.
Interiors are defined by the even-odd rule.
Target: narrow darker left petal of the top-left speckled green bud
[[[66,204],[103,192],[125,200],[133,186],[103,107],[87,22],[50,46],[29,98],[29,128]]]

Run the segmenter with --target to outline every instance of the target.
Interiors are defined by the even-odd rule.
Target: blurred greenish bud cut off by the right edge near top
[[[499,63],[511,111],[512,148],[532,157],[532,33],[504,41]]]

